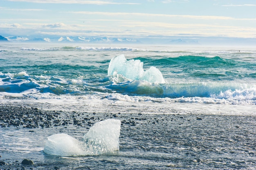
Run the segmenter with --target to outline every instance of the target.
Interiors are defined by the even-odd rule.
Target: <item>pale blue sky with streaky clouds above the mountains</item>
[[[2,36],[256,38],[256,0],[0,0]]]

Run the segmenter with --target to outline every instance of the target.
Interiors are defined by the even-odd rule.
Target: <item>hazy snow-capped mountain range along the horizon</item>
[[[84,37],[84,36],[1,36],[1,42],[40,42],[40,43],[84,43],[84,44],[141,44],[141,45],[173,45],[173,46],[198,46],[198,45],[226,45],[226,46],[252,46],[256,45],[256,38],[231,38],[231,37]]]

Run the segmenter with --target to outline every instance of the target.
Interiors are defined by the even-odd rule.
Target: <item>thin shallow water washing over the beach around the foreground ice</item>
[[[95,120],[111,114],[69,113]],[[1,128],[1,155],[5,167],[22,159],[34,161],[34,169],[254,169],[256,167],[255,116],[202,114],[116,114],[122,121],[120,150],[113,154],[60,157],[43,153],[47,136],[67,133],[79,139],[90,128]],[[113,119],[113,118],[112,118]],[[134,124],[129,122],[133,121]],[[95,122],[95,121],[94,121]],[[15,161],[18,162],[15,162]]]

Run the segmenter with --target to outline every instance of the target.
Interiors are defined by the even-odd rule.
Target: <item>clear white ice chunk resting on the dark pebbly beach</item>
[[[98,155],[119,150],[121,122],[107,119],[95,123],[84,135],[83,140],[68,134],[54,134],[45,143],[46,154],[58,156]]]

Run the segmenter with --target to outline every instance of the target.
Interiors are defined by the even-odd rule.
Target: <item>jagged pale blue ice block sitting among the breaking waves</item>
[[[165,83],[162,73],[155,67],[144,71],[140,60],[126,60],[124,55],[116,56],[110,60],[108,76],[122,74],[132,80],[144,80],[149,83]]]

